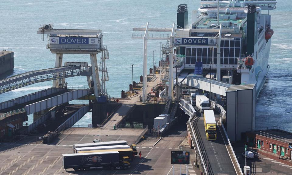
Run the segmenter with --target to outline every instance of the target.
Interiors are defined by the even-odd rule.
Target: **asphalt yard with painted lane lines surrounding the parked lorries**
[[[141,130],[141,131],[140,131]],[[142,159],[135,156],[128,170],[89,170],[74,171],[62,168],[62,154],[72,153],[73,144],[92,142],[93,139],[103,141],[126,140],[131,144],[142,132],[142,129],[101,130],[92,128],[70,128],[65,130],[50,145],[40,142],[0,143],[0,175],[102,175],[102,174],[168,174],[172,172],[171,150],[179,150],[178,146],[186,137],[186,125],[174,129],[168,136],[158,139],[146,139],[137,144]],[[33,140],[34,138],[31,137]],[[176,174],[179,166],[176,166]],[[186,171],[186,170],[184,170]],[[183,171],[182,171],[183,172]],[[171,173],[170,173],[171,174]]]

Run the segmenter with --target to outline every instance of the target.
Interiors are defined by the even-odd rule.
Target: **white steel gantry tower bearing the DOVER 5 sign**
[[[42,40],[47,35],[47,49],[56,54],[55,67],[62,66],[63,54],[89,54],[92,66],[92,79],[96,100],[101,95],[101,84],[99,80],[99,69],[96,54],[105,52],[103,47],[103,34],[101,30],[83,29],[53,29],[53,24],[41,25],[37,34]],[[102,78],[103,79],[103,78]],[[53,87],[59,87],[62,80],[53,81]],[[102,94],[103,95],[103,94]]]

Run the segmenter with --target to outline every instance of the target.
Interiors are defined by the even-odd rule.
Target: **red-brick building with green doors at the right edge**
[[[246,142],[261,155],[292,166],[292,131],[273,127],[273,129],[246,132]]]

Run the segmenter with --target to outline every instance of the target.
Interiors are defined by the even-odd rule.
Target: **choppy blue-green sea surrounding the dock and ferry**
[[[171,27],[176,22],[177,5],[187,4],[191,11],[199,0],[0,0],[0,50],[14,51],[13,75],[54,67],[55,55],[46,49],[47,40],[36,34],[41,24],[54,23],[55,29],[101,29],[103,45],[109,50],[106,83],[108,94],[120,97],[133,80],[139,81],[143,69],[143,40],[131,39],[133,27]],[[263,12],[267,13],[267,12]],[[271,66],[256,104],[256,126],[279,126],[292,130],[292,3],[281,0],[272,14]],[[148,68],[159,61],[159,42],[148,41]],[[99,55],[98,55],[99,58]],[[89,55],[65,54],[66,61],[90,62]],[[87,86],[86,77],[66,79],[68,86]],[[5,94],[0,102],[51,87],[52,81],[33,84]],[[32,118],[30,117],[30,120]],[[91,123],[88,113],[78,123]]]

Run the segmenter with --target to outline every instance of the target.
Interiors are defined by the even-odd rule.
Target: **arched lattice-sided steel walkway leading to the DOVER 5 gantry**
[[[0,81],[0,94],[30,84],[81,75],[80,65],[33,70]]]

